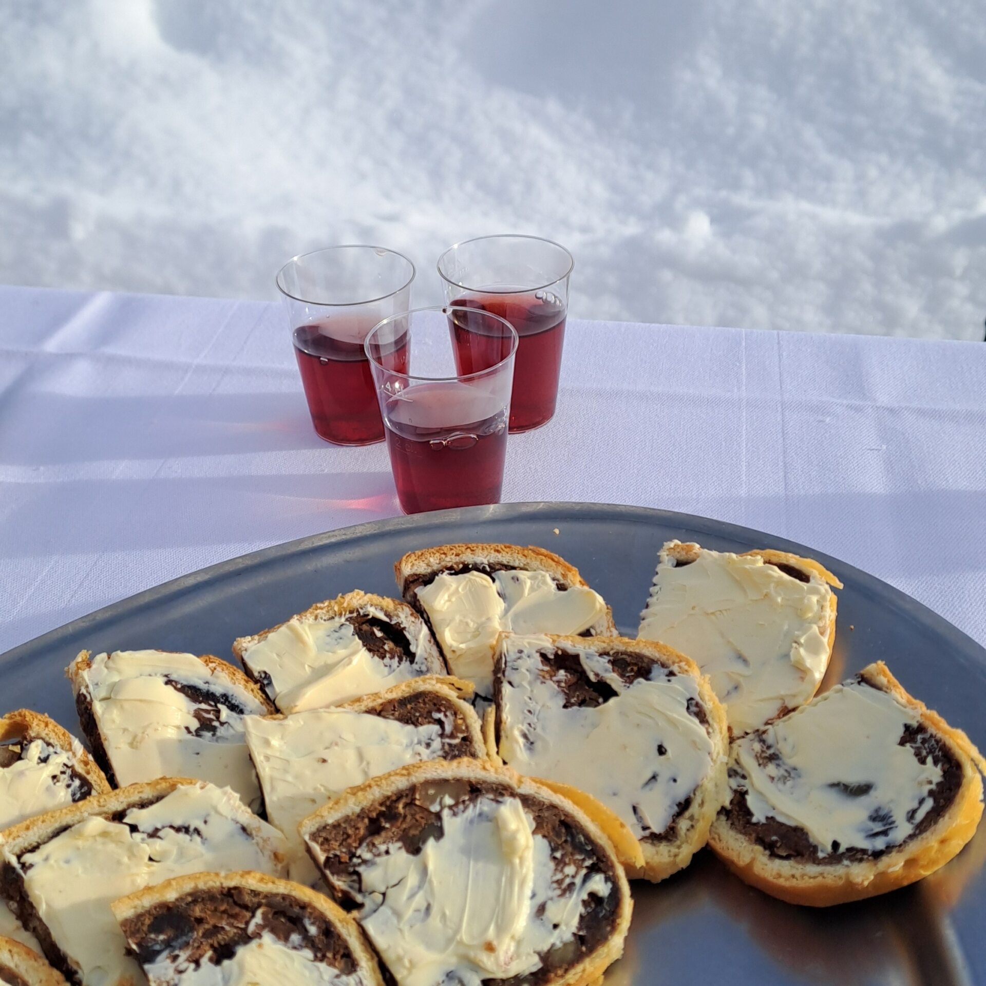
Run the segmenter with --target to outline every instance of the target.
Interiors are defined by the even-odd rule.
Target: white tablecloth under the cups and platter
[[[986,344],[569,321],[505,501],[781,534],[986,644]],[[0,651],[254,548],[398,513],[312,431],[274,305],[0,288]]]

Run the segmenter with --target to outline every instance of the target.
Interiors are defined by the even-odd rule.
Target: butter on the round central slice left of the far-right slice
[[[503,644],[500,756],[528,777],[585,791],[614,811],[638,838],[664,832],[715,764],[712,740],[688,712],[698,682],[660,665],[628,684],[591,650],[568,647],[592,681],[616,694],[597,706],[565,708],[562,674],[546,637]]]

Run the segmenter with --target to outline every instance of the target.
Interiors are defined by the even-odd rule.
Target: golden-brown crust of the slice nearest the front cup
[[[444,544],[420,551],[409,551],[393,566],[397,588],[401,595],[407,580],[416,575],[430,575],[445,569],[463,565],[483,564],[508,565],[528,572],[546,572],[565,586],[592,588],[579,574],[579,570],[569,565],[564,558],[545,548],[534,545],[520,547],[517,544]],[[613,623],[612,607],[606,606],[605,613],[589,628],[594,637],[615,637],[616,624]]]

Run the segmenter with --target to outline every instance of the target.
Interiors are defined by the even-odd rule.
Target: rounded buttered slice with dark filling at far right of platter
[[[983,766],[878,663],[733,744],[710,844],[785,900],[873,896],[933,873],[972,837]]]

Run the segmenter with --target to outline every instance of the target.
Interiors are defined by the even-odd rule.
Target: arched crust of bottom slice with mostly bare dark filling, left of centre
[[[109,907],[113,912],[113,917],[122,924],[128,918],[136,917],[149,907],[176,902],[186,894],[194,893],[197,890],[227,890],[237,887],[255,890],[258,893],[283,894],[314,907],[353,953],[359,973],[366,986],[384,986],[380,966],[377,964],[377,956],[364,938],[356,920],[323,893],[318,893],[311,887],[294,883],[291,880],[279,880],[276,877],[268,877],[265,874],[252,871],[226,874],[195,873],[186,877],[165,880],[165,882],[155,886],[145,887],[136,893],[114,900]],[[128,941],[131,948],[137,944],[132,940]]]

